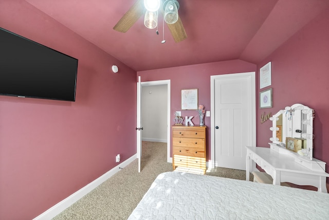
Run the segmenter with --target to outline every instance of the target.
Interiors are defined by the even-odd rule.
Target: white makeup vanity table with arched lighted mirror
[[[246,180],[249,173],[255,170],[258,164],[273,178],[273,185],[280,182],[291,182],[303,186],[315,186],[318,192],[327,193],[325,162],[313,158],[313,109],[302,104],[294,104],[280,110],[273,115],[272,137],[270,148],[246,146]],[[278,125],[282,126],[282,137],[277,137]],[[303,139],[305,149],[298,153],[287,150],[285,140],[287,137]]]

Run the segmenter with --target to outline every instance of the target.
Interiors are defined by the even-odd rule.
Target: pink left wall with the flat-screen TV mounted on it
[[[79,59],[76,102],[0,96],[0,219],[32,219],[136,153],[136,71],[25,1],[0,26]]]

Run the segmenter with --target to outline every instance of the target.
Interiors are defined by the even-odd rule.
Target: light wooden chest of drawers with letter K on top
[[[174,170],[180,167],[206,172],[206,127],[172,126]]]

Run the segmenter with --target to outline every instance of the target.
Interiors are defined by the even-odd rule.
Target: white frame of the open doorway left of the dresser
[[[172,162],[172,157],[170,157],[170,80],[141,82],[141,89],[152,85],[167,85],[167,162]]]

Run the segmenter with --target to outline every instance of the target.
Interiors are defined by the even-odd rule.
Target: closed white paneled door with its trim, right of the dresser
[[[245,146],[255,145],[255,72],[212,76],[212,96],[214,166],[246,170]]]

